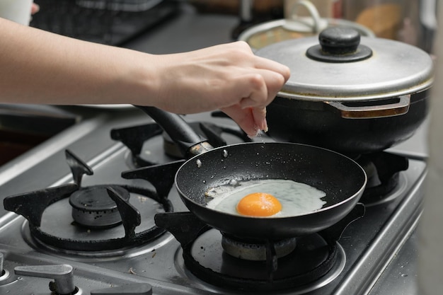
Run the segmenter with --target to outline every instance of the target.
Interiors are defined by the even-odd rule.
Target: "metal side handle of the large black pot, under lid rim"
[[[391,103],[390,100],[392,99],[396,101]],[[398,98],[389,98],[386,104],[381,104],[380,102],[382,101],[383,100],[376,100],[376,102],[378,102],[376,105],[350,105],[350,103],[341,101],[327,101],[326,103],[340,110],[341,116],[345,119],[393,117],[408,112],[410,94],[398,96]],[[352,103],[355,104],[355,102]]]

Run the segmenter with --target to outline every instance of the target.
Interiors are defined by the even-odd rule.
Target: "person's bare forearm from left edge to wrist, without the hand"
[[[151,104],[154,57],[17,25],[0,18],[0,102]],[[151,60],[152,59],[152,60]]]

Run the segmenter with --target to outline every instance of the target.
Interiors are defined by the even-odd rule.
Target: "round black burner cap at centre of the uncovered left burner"
[[[117,185],[95,185],[81,188],[69,197],[74,221],[81,226],[91,228],[120,224],[122,218],[117,204],[108,195],[108,187],[113,187],[126,201],[130,199],[130,192]]]

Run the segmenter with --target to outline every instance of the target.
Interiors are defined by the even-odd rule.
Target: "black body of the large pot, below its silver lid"
[[[376,106],[383,108],[387,102],[376,101]],[[371,103],[349,105],[361,110]],[[389,149],[412,137],[427,117],[428,106],[429,91],[422,91],[410,96],[408,112],[403,115],[352,120],[328,102],[277,97],[267,107],[268,134],[279,141],[322,146],[349,156],[367,154]]]

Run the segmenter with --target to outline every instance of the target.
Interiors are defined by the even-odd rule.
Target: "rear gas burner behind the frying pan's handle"
[[[214,112],[212,115],[214,117],[223,116],[219,112]],[[217,125],[212,122],[190,122],[189,125],[214,147],[225,146],[228,144],[226,139],[236,143],[252,141],[238,127]],[[135,168],[159,165],[185,158],[176,143],[156,123],[112,129],[110,137],[121,141],[130,149],[129,166]],[[158,137],[162,137],[163,140],[158,140]]]

